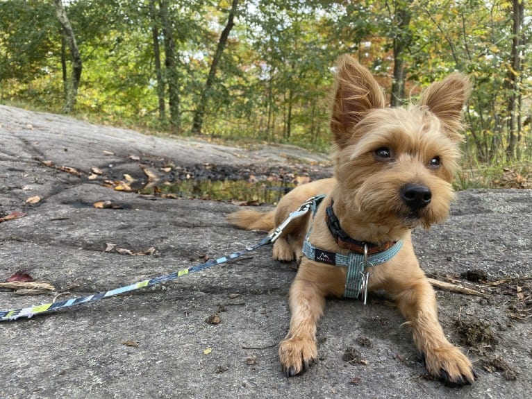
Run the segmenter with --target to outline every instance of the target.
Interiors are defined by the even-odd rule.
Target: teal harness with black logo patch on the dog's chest
[[[317,205],[322,201],[323,197],[315,197],[318,200],[315,200],[313,205],[313,217],[316,214]],[[332,207],[329,208],[332,212]],[[328,210],[328,211],[329,211]],[[329,212],[328,212],[329,213]],[[329,223],[328,223],[329,225]],[[345,298],[358,298],[360,294],[363,295],[364,305],[366,304],[367,298],[367,285],[369,281],[370,273],[365,271],[367,267],[378,266],[388,262],[392,259],[401,247],[403,246],[403,240],[395,242],[392,246],[387,247],[384,251],[372,253],[368,255],[367,248],[368,245],[374,246],[369,243],[360,243],[363,248],[363,253],[358,253],[351,251],[348,255],[343,255],[342,253],[335,253],[331,251],[325,251],[324,249],[317,248],[310,244],[308,238],[310,237],[310,232],[312,231],[312,226],[308,229],[305,241],[303,243],[303,255],[308,257],[310,260],[314,260],[320,263],[331,264],[333,266],[342,266],[347,267],[347,276],[345,280],[344,287],[344,297]],[[343,230],[342,230],[343,231]],[[332,231],[331,231],[332,232]],[[333,232],[333,235],[336,235]],[[349,237],[347,237],[349,238]],[[355,241],[355,240],[352,240]]]

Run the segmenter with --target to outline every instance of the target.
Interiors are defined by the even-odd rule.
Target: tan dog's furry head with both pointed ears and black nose
[[[331,130],[345,211],[390,229],[428,228],[444,220],[469,92],[467,77],[455,73],[426,88],[417,105],[385,108],[369,71],[350,56],[340,57]]]

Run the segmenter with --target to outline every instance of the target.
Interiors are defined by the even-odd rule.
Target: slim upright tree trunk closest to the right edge
[[[510,68],[508,68],[508,146],[506,159],[515,159],[517,142],[519,140],[520,109],[519,109],[519,80],[522,74],[521,46],[522,25],[524,14],[524,0],[512,1],[512,52]]]

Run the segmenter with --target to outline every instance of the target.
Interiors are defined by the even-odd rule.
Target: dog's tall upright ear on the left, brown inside
[[[340,56],[336,68],[331,130],[335,144],[343,148],[360,119],[369,110],[384,108],[385,99],[372,74],[351,56]]]

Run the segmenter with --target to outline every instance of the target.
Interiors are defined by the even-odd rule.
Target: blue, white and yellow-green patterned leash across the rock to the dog
[[[263,239],[261,239],[257,244],[253,246],[248,246],[242,251],[238,251],[235,253],[232,253],[231,255],[226,255],[219,257],[216,260],[209,260],[202,264],[197,264],[195,266],[191,266],[187,269],[181,269],[179,271],[176,271],[174,273],[160,275],[156,278],[151,278],[148,280],[143,280],[139,282],[135,282],[130,285],[126,285],[124,287],[118,287],[115,289],[111,289],[110,291],[103,291],[99,292],[97,294],[91,294],[88,296],[80,296],[77,298],[71,298],[67,300],[61,300],[59,302],[52,302],[52,303],[43,303],[40,305],[33,305],[30,307],[24,307],[22,309],[11,309],[11,310],[0,310],[0,321],[14,321],[19,319],[19,317],[32,317],[38,314],[43,314],[47,312],[52,312],[60,309],[65,309],[66,307],[72,307],[76,305],[81,305],[81,303],[88,303],[88,302],[94,302],[95,300],[100,300],[104,298],[110,298],[111,296],[117,296],[120,294],[124,294],[129,291],[134,291],[135,289],[141,289],[144,287],[152,287],[153,285],[158,285],[163,282],[175,280],[176,278],[182,277],[183,275],[188,275],[191,273],[195,273],[197,271],[201,271],[204,269],[208,269],[209,267],[215,266],[217,264],[222,264],[229,262],[231,260],[235,260],[236,258],[245,255],[251,251],[255,251],[256,249],[265,246],[267,244],[273,244],[276,239],[281,237],[281,234],[283,233],[283,230],[288,226],[294,219],[299,219],[300,217],[303,217],[305,214],[307,214],[310,210],[313,212],[316,211],[317,204],[319,204],[320,201],[325,196],[314,196],[311,198],[308,198],[307,201],[305,201],[299,209],[295,210],[294,212],[291,212],[288,217],[279,225],[278,228],[276,228],[271,234],[267,235]]]

